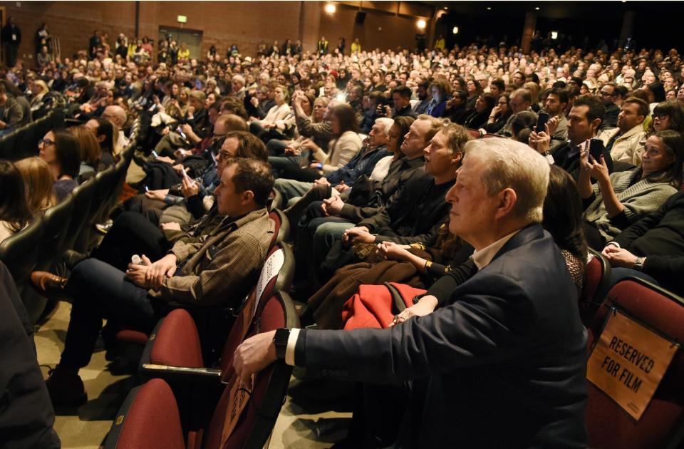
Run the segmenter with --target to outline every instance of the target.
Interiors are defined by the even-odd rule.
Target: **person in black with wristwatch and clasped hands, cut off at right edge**
[[[601,254],[613,267],[612,284],[636,276],[684,294],[684,192],[618,234]]]

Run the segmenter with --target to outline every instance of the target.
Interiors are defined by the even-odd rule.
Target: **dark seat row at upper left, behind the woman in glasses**
[[[48,131],[64,128],[64,114],[52,110],[48,115],[0,138],[0,159],[20,160],[38,155],[38,141]]]

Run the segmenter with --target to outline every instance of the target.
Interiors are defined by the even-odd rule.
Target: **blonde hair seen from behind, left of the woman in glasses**
[[[48,163],[38,157],[15,162],[26,185],[26,202],[33,214],[45,212],[57,204],[53,189],[53,176]]]

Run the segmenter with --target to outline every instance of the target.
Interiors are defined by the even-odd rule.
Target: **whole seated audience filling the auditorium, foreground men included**
[[[103,217],[99,244],[66,252],[66,270],[31,274],[41,294],[73,303],[46,381],[55,404],[86,401],[78,370],[100,333],[113,344],[103,319],[149,334],[183,304],[237,309],[275,242],[276,199],[302,329],[245,341],[239,378],[249,387],[276,358],[341,370],[362,392],[355,420],[423,417],[368,420],[340,447],[365,447],[368,435],[373,447],[586,446],[576,304],[588,248],[615,268],[613,283],[634,275],[684,293],[674,48],[523,53],[440,39],[380,51],[321,36],[314,51],[286,39],[256,56],[232,44],[200,57],[172,36],[95,31],[83,51],[53,58],[46,25],[37,36],[35,66],[0,68],[0,135],[52,110],[69,128],[46,133],[36,157],[0,160],[0,242],[125,150],[144,173]],[[384,282],[427,291],[387,329],[341,330],[349,297]],[[394,386],[374,401],[371,382]],[[399,401],[398,382],[422,396]]]

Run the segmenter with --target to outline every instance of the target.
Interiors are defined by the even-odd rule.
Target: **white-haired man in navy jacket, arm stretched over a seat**
[[[252,373],[280,360],[348,381],[408,381],[393,404],[405,406],[396,448],[587,445],[578,293],[540,224],[549,164],[512,140],[473,141],[465,153],[446,199],[450,232],[475,247],[477,273],[433,313],[389,329],[247,339],[233,366],[248,390]]]

